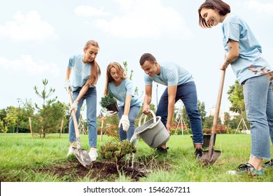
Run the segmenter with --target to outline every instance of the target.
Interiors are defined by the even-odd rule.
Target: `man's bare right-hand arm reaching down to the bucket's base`
[[[176,103],[177,85],[168,87],[168,118],[166,128],[169,134],[171,133],[172,116],[174,115],[174,104]]]

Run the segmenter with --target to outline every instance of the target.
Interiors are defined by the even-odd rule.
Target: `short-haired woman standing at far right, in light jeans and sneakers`
[[[200,6],[199,24],[211,28],[222,23],[225,59],[220,66],[232,69],[244,87],[246,118],[251,123],[251,157],[230,174],[248,173],[262,176],[262,167],[272,165],[270,141],[273,143],[273,92],[269,64],[262,48],[246,22],[230,13],[230,6],[221,0],[207,0]],[[255,70],[251,71],[255,67]],[[262,165],[262,160],[270,160]]]

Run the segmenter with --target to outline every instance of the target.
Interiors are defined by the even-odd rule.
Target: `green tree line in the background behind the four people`
[[[123,62],[125,71],[127,73],[128,67],[127,62]],[[133,71],[130,71],[130,79],[132,80]],[[31,99],[26,99],[25,102],[22,102],[18,107],[8,106],[6,109],[0,109],[0,131],[14,133],[17,132],[30,132],[29,119],[31,120],[31,128],[35,134],[38,134],[39,137],[45,137],[46,134],[57,133],[62,131],[62,133],[68,133],[69,125],[69,104],[62,103],[57,100],[57,97],[50,99],[55,93],[55,89],[50,87],[48,88],[48,80],[43,80],[43,90],[38,91],[38,87],[35,85],[34,90],[37,96],[43,100],[43,104],[38,106],[36,103],[32,103]],[[139,89],[136,87],[135,92],[139,94]],[[236,130],[241,119],[244,119],[246,125],[249,127],[246,121],[246,111],[244,108],[244,93],[243,88],[239,85],[239,82],[235,80],[235,84],[231,85],[228,90],[228,99],[230,100],[231,106],[230,111],[239,113],[238,116],[235,116],[231,119],[229,113],[225,113],[224,122],[221,122],[219,118],[218,124],[224,123],[228,126],[229,130]],[[142,97],[144,92],[142,92]],[[202,127],[204,129],[210,129],[214,120],[214,116],[207,116],[206,107],[204,102],[197,102],[198,110],[200,111],[202,119]],[[151,109],[156,110],[156,106],[151,104]],[[98,130],[102,128],[102,121],[104,121],[104,128],[107,132],[112,134],[118,134],[118,117],[107,118],[104,117],[104,111],[101,111],[97,117]],[[138,127],[139,118],[142,114],[142,109],[139,111],[139,115],[136,119],[136,127]],[[186,123],[188,128],[190,128],[190,120],[186,113],[185,106],[182,108],[176,107],[174,111],[174,117],[172,119],[173,123],[179,122],[180,118],[183,117],[183,121]],[[62,123],[63,121],[63,123]],[[85,120],[83,120],[84,127],[86,126]],[[60,127],[62,125],[62,130]],[[243,130],[246,127],[243,127],[243,124],[239,127],[239,130]]]

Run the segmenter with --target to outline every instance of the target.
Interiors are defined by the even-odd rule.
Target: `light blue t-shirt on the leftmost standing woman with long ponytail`
[[[69,58],[67,68],[71,68],[71,85],[72,91],[77,90],[78,87],[83,87],[91,74],[91,64],[83,62],[83,55],[75,55]],[[94,87],[94,86],[90,86]]]

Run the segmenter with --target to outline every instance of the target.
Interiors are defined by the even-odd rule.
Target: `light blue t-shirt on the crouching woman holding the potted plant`
[[[116,99],[118,99],[118,106],[125,105],[127,94],[132,95],[130,106],[140,107],[142,105],[141,100],[139,99],[139,97],[137,97],[137,94],[134,93],[132,81],[128,78],[121,80],[121,83],[118,86],[116,86],[112,80],[111,83],[109,83],[108,85],[108,91],[109,93],[111,92],[113,96],[116,97]]]

